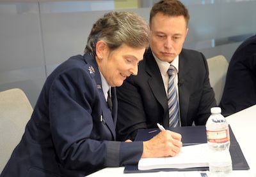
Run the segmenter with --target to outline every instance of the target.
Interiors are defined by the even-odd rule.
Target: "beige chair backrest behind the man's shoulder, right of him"
[[[223,55],[217,55],[207,59],[207,63],[211,87],[214,90],[217,105],[219,105],[225,86],[228,61]]]

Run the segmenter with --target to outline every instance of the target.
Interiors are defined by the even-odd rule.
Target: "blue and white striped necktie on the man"
[[[170,65],[167,73],[168,81],[168,108],[169,108],[169,127],[179,127],[179,105],[177,99],[177,90],[175,88],[175,68]]]

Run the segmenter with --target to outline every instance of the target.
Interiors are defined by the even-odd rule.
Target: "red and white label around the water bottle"
[[[207,131],[207,141],[211,143],[225,143],[229,141],[229,130],[222,130],[222,131]]]

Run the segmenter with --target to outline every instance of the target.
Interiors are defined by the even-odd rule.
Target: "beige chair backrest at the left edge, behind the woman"
[[[0,174],[19,144],[33,108],[19,88],[0,92]]]

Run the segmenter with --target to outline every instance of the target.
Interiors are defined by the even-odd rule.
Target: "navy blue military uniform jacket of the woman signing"
[[[115,88],[112,96],[113,117],[94,57],[77,55],[63,62],[47,78],[1,177],[84,176],[107,166],[136,164],[143,144],[115,141]]]

